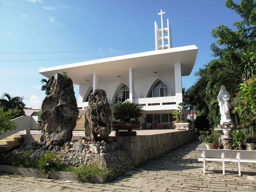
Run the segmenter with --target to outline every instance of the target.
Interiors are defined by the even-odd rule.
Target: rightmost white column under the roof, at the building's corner
[[[181,64],[174,64],[174,76],[175,76],[175,95],[176,95],[176,109],[178,104],[182,102],[182,80],[181,80]]]

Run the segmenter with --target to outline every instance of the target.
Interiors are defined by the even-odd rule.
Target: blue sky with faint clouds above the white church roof
[[[199,48],[192,73],[182,78],[189,88],[194,73],[213,59],[212,29],[241,20],[225,0],[0,0],[0,95],[23,96],[26,107],[40,108],[41,68],[155,50],[154,21],[161,26],[161,9],[173,45]],[[41,53],[24,54],[35,52]]]

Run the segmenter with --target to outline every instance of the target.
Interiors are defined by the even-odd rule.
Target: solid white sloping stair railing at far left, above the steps
[[[22,130],[24,130],[24,134],[30,134],[31,129],[38,129],[38,123],[36,120],[38,119],[38,116],[20,116],[18,118],[12,119],[11,121],[14,121],[16,124],[16,129],[7,131],[6,133],[2,131],[0,135],[0,140],[11,136],[13,134],[16,134]]]

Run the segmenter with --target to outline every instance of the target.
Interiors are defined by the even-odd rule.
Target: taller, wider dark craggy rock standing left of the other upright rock
[[[72,139],[79,114],[73,82],[69,77],[57,73],[52,76],[48,86],[52,93],[42,103],[41,141],[59,138],[62,142]]]

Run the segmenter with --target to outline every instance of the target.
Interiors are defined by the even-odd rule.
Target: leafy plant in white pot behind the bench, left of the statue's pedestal
[[[210,131],[200,131],[199,140],[206,144],[207,149],[213,149],[214,145],[218,145],[219,133],[214,129]]]

